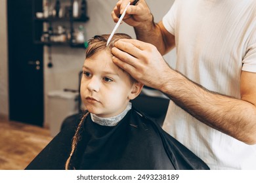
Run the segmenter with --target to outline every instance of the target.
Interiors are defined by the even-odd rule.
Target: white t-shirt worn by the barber
[[[176,0],[163,25],[175,35],[177,71],[240,99],[241,72],[256,73],[256,1]],[[199,122],[172,101],[163,129],[211,169],[256,169],[256,145]]]

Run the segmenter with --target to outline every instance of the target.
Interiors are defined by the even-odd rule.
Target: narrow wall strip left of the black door
[[[8,52],[7,52],[7,1],[0,0],[0,115],[9,116]]]

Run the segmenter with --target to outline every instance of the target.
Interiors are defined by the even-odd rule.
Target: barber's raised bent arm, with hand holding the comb
[[[129,1],[120,0],[117,2],[116,7],[112,11],[114,22],[119,20],[119,14],[123,13]],[[174,48],[175,37],[165,29],[162,22],[158,24],[154,22],[146,1],[140,0],[137,5],[132,4],[133,1],[131,1],[131,5],[127,8],[123,22],[134,27],[137,39],[154,44],[162,55]]]

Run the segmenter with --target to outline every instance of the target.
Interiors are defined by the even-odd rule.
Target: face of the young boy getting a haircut
[[[81,99],[86,109],[102,118],[125,110],[135,89],[127,73],[119,69],[106,50],[85,59],[81,78]]]

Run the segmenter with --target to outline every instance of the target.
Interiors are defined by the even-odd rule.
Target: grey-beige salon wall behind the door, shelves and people
[[[7,69],[7,11],[6,1],[0,0],[0,38],[1,38],[1,52],[0,52],[0,114],[9,114],[8,103],[8,69]],[[169,10],[174,0],[147,0],[148,6],[154,15],[154,20],[159,22],[163,15]],[[87,39],[94,35],[111,33],[115,23],[112,20],[111,12],[116,5],[116,0],[87,0],[89,22],[85,23]],[[3,21],[2,21],[3,20]],[[76,23],[77,26],[79,23]],[[127,33],[135,38],[133,27],[122,24],[117,32]],[[3,45],[3,46],[2,46]],[[85,50],[83,48],[70,48],[64,46],[53,46],[51,49],[51,56],[53,67],[48,68],[49,62],[49,48],[45,46],[44,51],[44,87],[45,87],[45,116],[49,111],[49,99],[47,93],[53,90],[63,90],[64,88],[77,90],[78,73],[81,70],[83,61],[85,59]],[[175,61],[175,50],[167,54],[164,58],[170,65]],[[47,121],[45,121],[47,125]]]

